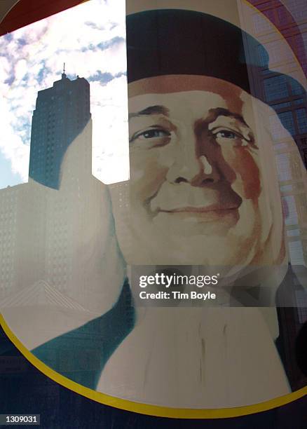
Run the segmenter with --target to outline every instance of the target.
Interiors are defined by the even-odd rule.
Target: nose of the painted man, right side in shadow
[[[187,137],[187,136],[186,136]],[[177,142],[174,162],[166,179],[173,184],[189,183],[191,186],[206,186],[220,180],[217,163],[214,162],[212,148],[196,135],[190,135]],[[201,146],[201,150],[200,150]]]

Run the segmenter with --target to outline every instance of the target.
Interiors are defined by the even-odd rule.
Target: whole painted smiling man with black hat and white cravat
[[[268,55],[229,22],[174,9],[128,15],[127,46],[129,203],[110,187],[118,251],[109,267],[126,275],[104,285],[118,301],[32,351],[84,386],[163,407],[240,407],[290,393],[275,346],[275,297],[295,275],[266,126],[274,111],[249,79]],[[135,306],[130,267],[165,265],[219,266],[227,305]],[[270,308],[246,303],[247,287],[264,287]],[[97,362],[86,375],[85,351]],[[74,370],[60,369],[57,352],[74,356]]]

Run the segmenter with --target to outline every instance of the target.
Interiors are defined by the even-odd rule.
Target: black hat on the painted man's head
[[[145,11],[128,15],[126,29],[128,83],[193,74],[233,83],[267,104],[274,90],[274,100],[284,97],[285,86],[306,97],[298,81],[275,71],[273,88],[264,90],[257,77],[269,73],[265,48],[236,25],[213,15],[181,9]],[[293,133],[286,118],[280,116],[280,121]]]

